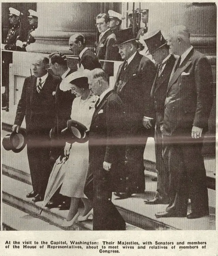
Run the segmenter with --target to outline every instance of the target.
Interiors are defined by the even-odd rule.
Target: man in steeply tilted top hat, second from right
[[[144,41],[148,47],[148,54],[158,65],[155,81],[151,88],[151,98],[154,99],[156,109],[155,124],[155,156],[157,171],[157,191],[154,199],[147,199],[147,204],[167,204],[169,203],[169,168],[163,161],[163,119],[164,102],[166,89],[170,75],[175,63],[175,57],[169,53],[169,46],[160,30],[146,34]]]

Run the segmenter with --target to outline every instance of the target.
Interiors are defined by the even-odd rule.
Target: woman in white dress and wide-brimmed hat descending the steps
[[[86,126],[89,130],[92,115],[95,111],[95,103],[98,97],[93,96],[89,90],[88,78],[83,71],[76,71],[68,75],[64,84],[69,83],[72,93],[76,98],[72,104],[71,119],[76,120]],[[69,155],[69,159],[64,164],[66,171],[60,194],[71,197],[71,205],[68,216],[62,226],[71,226],[78,218],[79,198],[83,200],[85,210],[82,216],[92,209],[91,201],[84,194],[84,186],[88,171],[88,142],[69,144],[66,142],[64,154]]]

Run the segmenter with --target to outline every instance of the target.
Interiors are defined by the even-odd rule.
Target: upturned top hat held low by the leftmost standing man
[[[2,146],[4,149],[7,151],[12,150],[14,153],[22,151],[26,144],[26,131],[22,128],[19,129],[18,133],[13,131],[2,139]]]

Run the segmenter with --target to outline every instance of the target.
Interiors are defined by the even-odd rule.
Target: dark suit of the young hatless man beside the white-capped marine
[[[98,42],[96,48],[96,56],[99,60],[119,60],[120,56],[118,53],[118,48],[113,47],[116,42],[116,36],[111,31],[108,30],[104,33],[101,40]],[[105,61],[102,66],[103,70],[109,75],[114,75],[114,63]]]

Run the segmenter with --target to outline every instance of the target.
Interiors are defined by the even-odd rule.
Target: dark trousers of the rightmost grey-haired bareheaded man
[[[176,140],[176,138],[175,138]],[[173,143],[165,137],[164,161],[169,164],[170,205],[167,211],[186,214],[188,198],[193,213],[208,214],[206,171],[201,153],[203,137],[188,138],[186,143]]]

